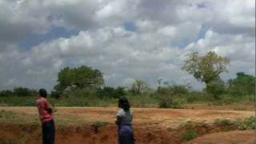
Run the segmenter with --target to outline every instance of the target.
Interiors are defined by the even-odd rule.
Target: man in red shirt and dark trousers
[[[46,97],[46,90],[40,89],[36,105],[38,107],[40,121],[42,122],[42,144],[54,144],[54,119],[50,103],[47,101]]]

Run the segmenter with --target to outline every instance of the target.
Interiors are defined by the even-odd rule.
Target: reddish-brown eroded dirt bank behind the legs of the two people
[[[138,144],[180,143],[181,135],[166,129],[134,126],[134,131]],[[0,143],[15,144],[38,144],[42,137],[38,125],[1,124],[0,135]],[[117,127],[114,125],[68,126],[57,128],[55,140],[56,144],[117,144],[117,138]]]

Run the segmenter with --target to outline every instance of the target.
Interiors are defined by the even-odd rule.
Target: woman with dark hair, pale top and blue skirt
[[[119,144],[134,144],[134,133],[132,128],[133,111],[130,110],[130,103],[127,98],[120,98],[118,101],[117,121]]]

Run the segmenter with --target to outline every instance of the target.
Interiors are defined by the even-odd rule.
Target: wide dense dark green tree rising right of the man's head
[[[102,86],[104,79],[102,72],[92,69],[88,66],[80,66],[78,68],[65,67],[58,73],[58,84],[54,86],[54,90],[62,92],[72,88],[92,88]]]

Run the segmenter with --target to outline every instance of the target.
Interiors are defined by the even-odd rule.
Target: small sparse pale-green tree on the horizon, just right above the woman
[[[142,91],[150,90],[150,86],[141,79],[135,79],[135,82],[131,85],[131,91],[134,94],[142,94]]]

